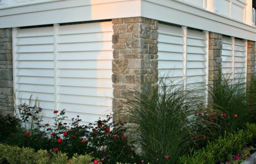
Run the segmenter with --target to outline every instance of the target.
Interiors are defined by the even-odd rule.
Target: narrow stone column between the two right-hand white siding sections
[[[221,72],[222,34],[210,32],[209,36],[209,85]]]

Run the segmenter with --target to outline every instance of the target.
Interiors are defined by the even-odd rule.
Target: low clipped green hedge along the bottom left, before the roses
[[[91,164],[92,157],[88,155],[74,155],[68,159],[65,153],[47,152],[46,150],[35,151],[33,148],[20,148],[17,146],[9,146],[0,144],[0,163],[10,164]]]

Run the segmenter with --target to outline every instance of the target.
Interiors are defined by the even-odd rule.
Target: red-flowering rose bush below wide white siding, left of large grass
[[[138,156],[132,151],[127,136],[124,135],[124,128],[114,128],[110,123],[111,116],[106,120],[98,120],[89,125],[80,125],[80,118],[72,118],[68,126],[65,121],[65,110],[55,111],[55,125],[57,128],[47,128],[51,133],[51,148],[68,153],[90,153],[93,157],[99,158],[102,163],[115,163],[138,161]]]

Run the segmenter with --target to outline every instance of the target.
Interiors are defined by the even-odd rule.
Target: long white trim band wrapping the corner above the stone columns
[[[0,8],[0,28],[146,17],[256,41],[256,27],[174,0],[65,0]]]

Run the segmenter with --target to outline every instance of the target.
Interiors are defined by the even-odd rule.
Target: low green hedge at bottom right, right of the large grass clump
[[[227,160],[232,153],[240,153],[244,146],[256,138],[256,125],[247,124],[245,130],[225,134],[214,142],[209,142],[206,147],[192,151],[191,155],[180,158],[183,164],[214,164]]]

